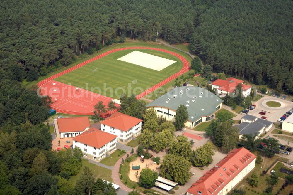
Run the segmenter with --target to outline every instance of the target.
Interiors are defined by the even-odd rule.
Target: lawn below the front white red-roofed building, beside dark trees
[[[79,180],[81,173],[84,170],[84,167],[87,166],[91,170],[93,177],[97,178],[100,177],[102,179],[105,179],[107,181],[112,182],[112,171],[110,169],[106,169],[104,167],[98,166],[96,164],[90,163],[87,159],[81,159],[82,166],[79,169],[78,174],[71,176],[69,181],[71,181],[72,185],[75,186],[76,181]]]

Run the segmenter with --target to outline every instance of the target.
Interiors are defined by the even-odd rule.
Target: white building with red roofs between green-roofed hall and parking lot
[[[233,93],[236,89],[236,86],[241,83],[242,86],[242,95],[247,97],[250,95],[251,85],[243,84],[243,80],[239,80],[233,77],[228,78],[227,80],[217,79],[211,85],[212,88],[216,89],[218,96],[224,96],[227,93]]]

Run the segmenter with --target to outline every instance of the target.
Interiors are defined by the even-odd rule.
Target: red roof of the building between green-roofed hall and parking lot
[[[243,80],[239,80],[239,79],[236,79],[236,78],[233,78],[233,77],[230,77],[228,78],[227,80],[222,80],[222,79],[217,79],[215,80],[212,85],[217,85],[219,86],[219,90],[222,90],[222,91],[227,91],[229,93],[232,93],[236,86],[239,84],[239,83],[243,83],[244,81]],[[251,88],[250,85],[245,85],[245,84],[242,84],[242,90],[246,91],[248,90],[249,88]]]

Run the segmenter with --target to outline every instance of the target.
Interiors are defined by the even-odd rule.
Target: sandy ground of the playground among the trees
[[[129,167],[130,167],[130,171],[129,171],[129,179],[131,179],[132,181],[135,181],[135,182],[138,182],[139,178],[137,178],[135,176],[135,173],[138,171],[138,170],[132,170],[132,166],[139,166],[140,165],[140,171],[144,168],[148,168],[151,169],[151,170],[154,170],[156,172],[160,172],[160,169],[157,169],[156,167],[160,167],[160,165],[156,165],[154,164],[154,162],[151,160],[151,159],[144,159],[144,162],[140,162],[140,157],[137,157],[137,159],[135,161],[132,161],[130,164],[129,164]],[[138,172],[139,173],[139,172]]]

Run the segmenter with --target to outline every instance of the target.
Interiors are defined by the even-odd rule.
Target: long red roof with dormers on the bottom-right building
[[[233,149],[211,170],[195,181],[187,192],[198,194],[197,191],[201,191],[201,195],[217,194],[255,158],[256,156],[244,147]]]

